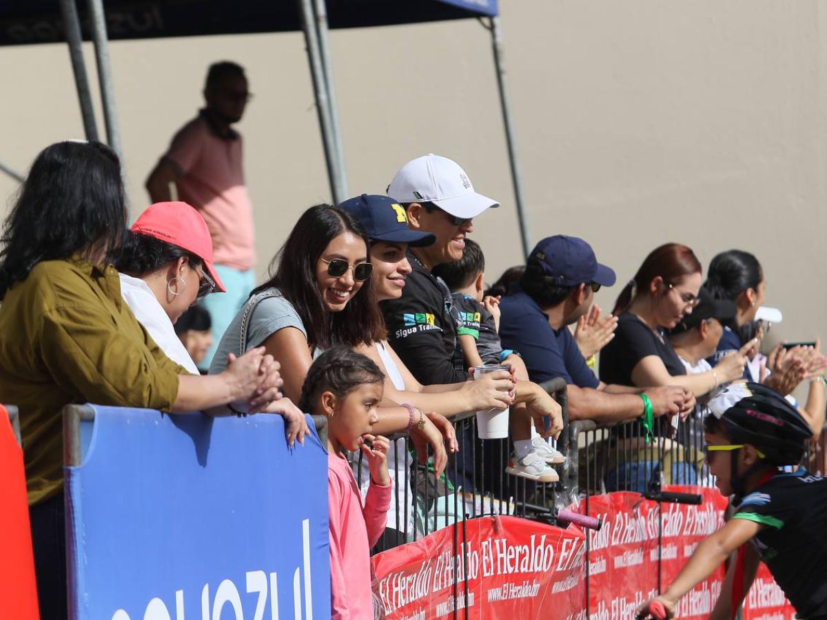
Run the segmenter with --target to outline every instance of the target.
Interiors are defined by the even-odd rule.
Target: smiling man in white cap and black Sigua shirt
[[[404,207],[397,214],[400,221],[407,219],[410,228],[437,236],[433,246],[408,251],[414,271],[402,297],[381,303],[388,341],[419,383],[465,381],[467,375],[453,363],[457,329],[451,292],[431,270],[460,260],[466,235],[474,230],[473,218],[500,203],[476,193],[465,170],[439,155],[423,155],[402,166],[388,195]]]

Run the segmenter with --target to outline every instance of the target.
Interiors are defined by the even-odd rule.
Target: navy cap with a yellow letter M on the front
[[[374,241],[396,241],[411,247],[432,246],[437,237],[430,232],[412,231],[404,207],[389,196],[363,193],[339,205],[365,228]]]

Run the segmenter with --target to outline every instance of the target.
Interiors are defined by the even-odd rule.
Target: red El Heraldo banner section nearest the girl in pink
[[[585,537],[516,517],[480,517],[373,557],[387,618],[557,618],[582,613]],[[465,576],[467,575],[467,579]],[[463,611],[462,618],[466,618]]]

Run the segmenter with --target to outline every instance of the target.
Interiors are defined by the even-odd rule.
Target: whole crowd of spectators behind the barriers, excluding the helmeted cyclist
[[[485,255],[468,235],[500,205],[438,155],[405,164],[387,196],[309,207],[265,282],[243,284],[246,193],[231,201],[244,217],[227,219],[214,202],[190,206],[163,191],[174,181],[182,200],[203,193],[198,149],[240,149],[229,125],[249,98],[243,74],[216,69],[205,94],[208,108],[151,176],[153,198],[163,199],[130,230],[117,156],[84,141],[41,151],[2,230],[0,402],[21,413],[45,618],[65,614],[60,409],[69,403],[275,413],[291,444],[309,432],[304,413],[327,416],[334,617],[370,608],[369,546],[397,545],[410,529],[400,526],[410,503],[389,500],[400,486],[414,497],[410,455],[384,436],[407,434],[439,476],[480,441],[457,437],[452,417],[511,408],[513,451],[501,466],[553,482],[564,457],[548,438],[562,431],[562,415],[539,384],[555,378],[567,384],[571,420],[640,419],[650,430],[696,414],[742,378],[785,396],[810,380],[801,411],[820,433],[827,360],[817,343],[777,347],[750,375],[767,330],[757,324],[767,283],[753,255],[716,256],[702,285],[690,248],[660,246],[603,316],[594,296],[615,284],[614,270],[586,241],[548,236],[484,294]],[[232,103],[235,112],[216,112]],[[208,313],[196,305],[231,288],[238,303]],[[198,371],[204,361],[208,374]],[[483,365],[504,368],[471,380]],[[342,456],[354,450],[364,456],[361,489]]]

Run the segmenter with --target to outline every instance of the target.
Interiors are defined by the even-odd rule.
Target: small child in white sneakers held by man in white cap
[[[518,384],[518,394],[542,392],[537,384],[528,381],[528,370],[519,354],[503,349],[499,334],[500,298],[483,298],[482,294],[485,255],[476,241],[466,238],[465,244],[460,260],[437,265],[433,270],[433,274],[442,278],[451,289],[452,314],[457,321],[457,351],[454,354],[457,370],[482,365],[511,365],[516,378],[523,382]],[[566,459],[534,428],[526,404],[514,407],[509,424],[514,453],[505,471],[537,482],[557,482],[559,476],[549,465],[559,465]]]

